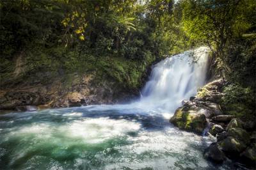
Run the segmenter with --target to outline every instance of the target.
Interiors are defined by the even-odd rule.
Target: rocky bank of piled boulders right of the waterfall
[[[229,86],[230,83],[221,79],[209,82],[198,90],[196,97],[184,101],[170,122],[188,132],[216,137],[216,142],[205,149],[205,158],[219,164],[230,158],[244,166],[255,168],[255,112],[241,108],[246,107],[243,101],[238,103],[238,108],[238,104],[232,104],[233,107],[224,105]],[[247,116],[239,114],[239,111],[245,110]]]

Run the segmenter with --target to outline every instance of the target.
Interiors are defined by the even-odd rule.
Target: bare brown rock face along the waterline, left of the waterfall
[[[124,102],[139,95],[138,89],[128,89],[90,75],[76,75],[72,79],[56,79],[53,82],[26,82],[19,89],[0,90],[0,110],[28,111],[26,106],[38,109],[51,107],[76,107],[88,104],[113,104]]]

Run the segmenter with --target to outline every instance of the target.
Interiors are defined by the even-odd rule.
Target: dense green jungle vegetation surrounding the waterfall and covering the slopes
[[[255,0],[3,0],[0,8],[2,88],[74,72],[138,88],[155,61],[207,45],[216,75],[231,83],[225,104],[255,112]],[[15,76],[19,56],[25,67]]]

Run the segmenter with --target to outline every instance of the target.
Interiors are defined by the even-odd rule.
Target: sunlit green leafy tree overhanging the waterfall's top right
[[[252,4],[250,0],[183,1],[182,21],[186,33],[191,42],[211,48],[223,74],[231,72],[225,58],[232,41],[253,27],[245,17],[246,10],[253,13]]]

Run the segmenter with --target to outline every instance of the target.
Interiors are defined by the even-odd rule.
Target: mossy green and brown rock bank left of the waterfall
[[[54,56],[59,51],[58,57]],[[96,57],[69,49],[76,65],[70,63],[67,49],[27,51],[15,61],[5,63],[1,72],[0,109],[29,111],[75,107],[92,104],[129,102],[140,96],[156,57],[148,54],[138,62],[133,59]],[[38,55],[40,53],[40,56]],[[61,59],[62,55],[69,55]],[[36,56],[36,65],[34,57]],[[45,63],[45,58],[47,62]],[[12,65],[16,63],[15,65]],[[61,63],[67,63],[63,68]],[[7,69],[8,68],[8,69]]]

